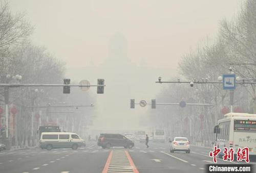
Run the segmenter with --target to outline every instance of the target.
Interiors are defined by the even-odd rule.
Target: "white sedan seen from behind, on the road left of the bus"
[[[186,153],[190,153],[189,141],[185,137],[175,137],[173,141],[170,142],[170,153],[174,153],[175,151],[183,151]]]

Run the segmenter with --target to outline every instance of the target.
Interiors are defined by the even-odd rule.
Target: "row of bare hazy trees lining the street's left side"
[[[13,14],[7,1],[0,1],[0,83],[26,83],[26,84],[56,84],[63,83],[65,75],[65,64],[55,58],[46,47],[37,46],[30,41],[33,32],[32,24],[26,20],[25,13]],[[12,77],[15,75],[22,76],[22,80],[17,81]],[[11,78],[8,78],[11,77]],[[78,97],[78,95],[76,95]],[[90,100],[90,95],[87,99]],[[0,107],[4,109],[5,104],[16,107],[17,113],[15,117],[11,116],[10,122],[15,123],[10,126],[9,139],[5,139],[6,135],[0,133],[0,142],[12,143],[12,145],[31,145],[32,138],[38,138],[36,129],[39,126],[38,114],[39,109],[30,106],[46,106],[51,105],[74,104],[76,99],[70,99],[69,96],[62,94],[62,89],[58,87],[19,87],[7,88],[0,87]],[[73,103],[72,103],[73,102]],[[81,103],[80,103],[81,104]],[[56,110],[41,109],[41,124],[43,121],[56,119],[56,114],[51,113]],[[61,112],[62,110],[57,110]],[[67,111],[67,110],[66,110]],[[72,111],[70,111],[72,112]],[[63,112],[65,114],[65,110]],[[70,117],[74,114],[69,114]],[[32,123],[33,116],[33,123]],[[47,118],[46,118],[47,116]],[[61,117],[63,118],[61,120]],[[69,121],[72,121],[65,114],[59,117],[59,125],[62,123],[65,130],[82,131]],[[1,129],[5,131],[5,116],[2,113]],[[61,120],[61,122],[60,122]],[[85,117],[77,115],[73,121],[84,122]],[[56,122],[56,120],[55,120]],[[32,125],[33,128],[32,128]],[[79,124],[79,126],[82,126]],[[33,129],[33,132],[32,131]],[[12,133],[11,133],[12,132]],[[32,136],[33,134],[33,136]]]

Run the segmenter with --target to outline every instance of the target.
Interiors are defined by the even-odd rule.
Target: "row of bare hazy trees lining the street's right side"
[[[217,81],[231,67],[245,81],[256,81],[256,2],[247,0],[239,15],[231,21],[222,20],[214,43],[207,39],[182,57],[179,64],[182,80]],[[177,80],[177,79],[172,79]],[[152,112],[152,126],[164,127],[170,137],[185,135],[193,142],[210,145],[221,110],[229,106],[229,93],[218,84],[201,84],[193,88],[172,84],[157,95],[163,102],[209,103],[212,107],[166,107]],[[255,85],[238,85],[234,91],[234,108],[256,113]],[[238,109],[239,110],[239,109]],[[156,115],[158,114],[158,115]],[[201,116],[200,116],[201,115]],[[203,118],[202,118],[203,117]],[[157,118],[157,119],[156,119]]]

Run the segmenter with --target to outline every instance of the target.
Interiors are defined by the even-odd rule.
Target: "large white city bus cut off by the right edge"
[[[214,133],[216,134],[214,144],[222,151],[224,147],[233,148],[236,154],[239,147],[241,149],[248,147],[249,155],[256,155],[256,114],[225,114],[223,119],[218,120]]]

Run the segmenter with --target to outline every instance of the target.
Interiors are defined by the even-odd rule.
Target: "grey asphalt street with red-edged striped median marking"
[[[122,147],[102,149],[96,142],[87,142],[78,150],[39,148],[0,152],[1,173],[24,172],[204,172],[212,163],[209,148],[190,146],[191,153],[170,153],[168,143],[144,143],[126,150]],[[218,164],[230,162],[218,159]],[[231,164],[240,164],[232,162]],[[254,164],[254,162],[253,162]]]

